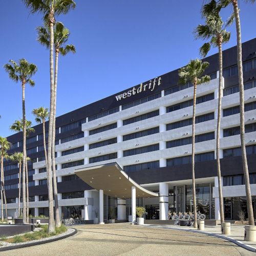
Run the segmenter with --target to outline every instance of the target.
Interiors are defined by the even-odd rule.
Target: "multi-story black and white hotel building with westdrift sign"
[[[188,59],[189,60],[189,59]],[[198,86],[196,105],[196,191],[198,210],[206,219],[219,219],[216,165],[218,112],[218,54],[210,63],[211,80]],[[184,63],[185,65],[186,63]],[[238,219],[246,211],[240,141],[237,48],[223,52],[223,98],[221,119],[221,172],[225,219]],[[245,88],[245,140],[251,194],[256,210],[256,38],[243,44]],[[157,197],[136,194],[147,219],[165,219],[166,209],[193,209],[191,188],[191,118],[193,88],[178,85],[178,70],[159,75],[115,95],[83,106],[56,119],[56,164],[59,210],[63,218],[93,219],[102,198],[93,182],[79,178],[79,170],[116,162],[141,187]],[[29,207],[34,216],[48,215],[48,190],[42,125],[27,140],[29,163]],[[22,133],[8,137],[10,154],[22,151]],[[77,170],[77,171],[76,171]],[[5,162],[8,212],[17,216],[18,165]],[[81,176],[82,177],[82,176]],[[93,179],[93,177],[92,177]],[[121,179],[121,177],[119,178]],[[102,179],[102,186],[104,179]],[[115,187],[115,184],[112,184]],[[123,187],[125,189],[125,187]],[[111,187],[109,188],[111,191]],[[131,199],[109,196],[103,191],[104,219],[114,208],[118,219],[131,215]],[[153,193],[153,194],[154,194]],[[164,208],[161,207],[164,205]],[[167,207],[166,207],[167,206]],[[125,209],[125,210],[124,210]],[[163,212],[164,209],[164,212]],[[255,214],[254,214],[255,216]]]

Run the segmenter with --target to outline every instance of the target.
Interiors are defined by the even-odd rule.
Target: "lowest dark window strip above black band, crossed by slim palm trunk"
[[[170,158],[166,160],[166,166],[176,166],[181,164],[188,164],[191,163],[192,157],[190,156],[184,156],[184,157],[176,157],[176,158]],[[204,162],[214,160],[214,152],[206,152],[201,154],[195,155],[195,162]]]

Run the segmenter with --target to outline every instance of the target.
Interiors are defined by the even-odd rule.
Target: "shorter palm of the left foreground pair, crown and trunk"
[[[38,37],[37,40],[40,44],[44,45],[47,49],[50,47],[50,30],[49,26],[38,27]],[[62,56],[67,55],[69,52],[75,53],[74,45],[66,45],[69,39],[69,30],[64,27],[61,22],[57,22],[54,25],[54,48],[55,48],[55,76],[54,76],[54,106],[53,106],[53,125],[52,125],[52,170],[53,170],[53,195],[55,202],[55,223],[59,227],[61,225],[59,218],[58,209],[58,191],[57,191],[57,181],[56,181],[56,169],[55,169],[55,119],[56,119],[56,98],[57,98],[57,79],[58,79],[58,57],[59,53]]]

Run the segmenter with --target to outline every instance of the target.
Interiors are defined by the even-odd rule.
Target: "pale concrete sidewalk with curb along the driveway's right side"
[[[204,231],[198,230],[197,228],[194,228],[194,227],[181,227],[177,225],[146,225],[146,226],[208,234],[209,236],[226,239],[238,246],[241,246],[244,249],[256,252],[256,242],[244,241],[244,226],[231,225],[230,235],[221,234],[221,226],[205,226]]]

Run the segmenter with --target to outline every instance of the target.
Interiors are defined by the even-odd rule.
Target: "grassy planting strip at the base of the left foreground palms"
[[[41,225],[41,230],[34,231],[33,233],[25,233],[24,236],[15,236],[13,238],[6,238],[6,236],[0,237],[0,241],[5,241],[8,243],[22,243],[33,240],[38,240],[42,238],[49,238],[55,236],[56,234],[61,234],[67,231],[67,227],[65,225],[61,225],[60,227],[55,227],[55,233],[48,233],[48,225]]]

